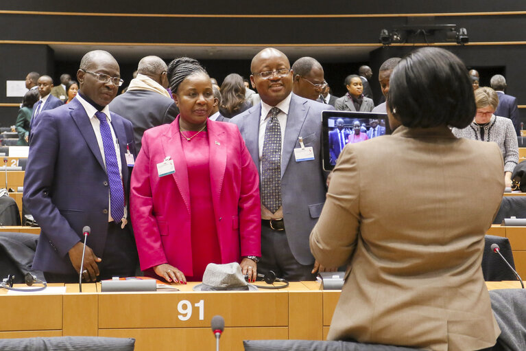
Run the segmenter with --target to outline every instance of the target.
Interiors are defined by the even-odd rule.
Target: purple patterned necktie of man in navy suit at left
[[[121,173],[119,172],[119,163],[111,137],[111,130],[106,114],[100,111],[95,113],[100,121],[100,135],[102,145],[104,146],[104,159],[106,159],[106,173],[110,182],[110,205],[111,216],[116,223],[119,223],[124,216],[124,190],[122,187]]]

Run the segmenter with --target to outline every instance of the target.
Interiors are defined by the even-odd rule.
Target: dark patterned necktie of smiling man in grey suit
[[[270,109],[270,120],[265,128],[263,159],[261,160],[261,199],[270,212],[281,207],[281,128],[278,121],[280,109]]]

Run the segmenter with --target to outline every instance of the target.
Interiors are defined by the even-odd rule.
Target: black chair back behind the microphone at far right
[[[497,244],[501,249],[502,256],[510,262],[515,269],[512,245],[510,240],[501,236],[487,235],[485,237],[484,253],[482,256],[482,274],[486,282],[500,282],[501,280],[516,280],[515,274],[507,267],[498,253],[494,253],[491,245]]]

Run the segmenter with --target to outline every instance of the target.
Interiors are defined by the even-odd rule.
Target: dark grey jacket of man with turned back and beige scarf
[[[135,146],[141,150],[144,131],[170,124],[179,114],[174,100],[150,90],[128,90],[110,103],[110,111],[132,122]]]

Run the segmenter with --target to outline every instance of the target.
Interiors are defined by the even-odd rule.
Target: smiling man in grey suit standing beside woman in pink
[[[261,103],[230,122],[239,127],[261,179],[258,273],[272,270],[287,280],[312,280],[318,264],[309,233],[325,201],[321,111],[328,106],[291,93],[294,73],[277,49],[256,54],[250,69]]]

